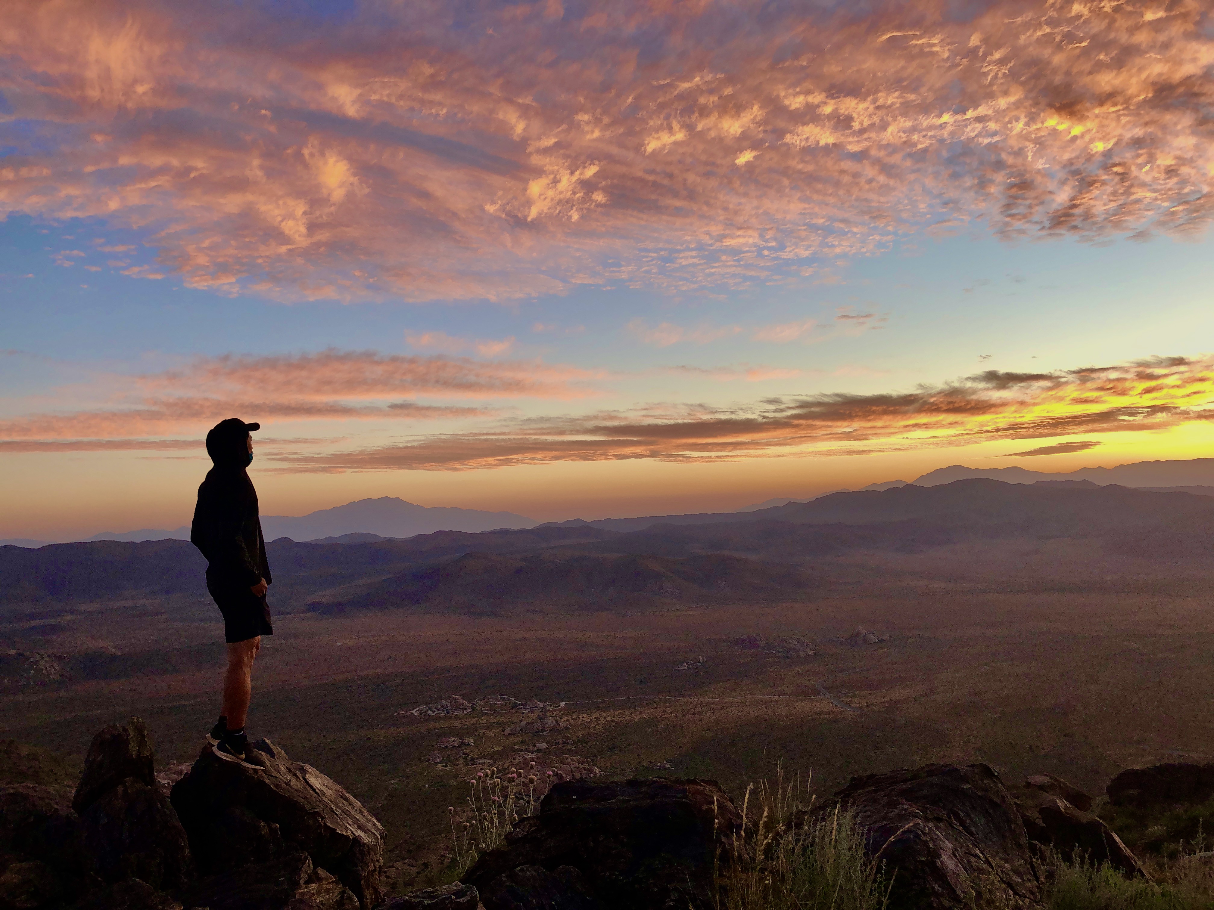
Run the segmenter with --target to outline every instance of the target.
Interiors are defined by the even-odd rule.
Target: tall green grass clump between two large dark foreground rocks
[[[716,910],[884,910],[889,883],[851,813],[812,814],[799,780],[747,787],[745,826],[717,875]]]

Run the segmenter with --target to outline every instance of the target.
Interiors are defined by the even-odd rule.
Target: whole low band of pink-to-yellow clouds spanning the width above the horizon
[[[1048,439],[1072,434],[1163,431],[1214,420],[1214,357],[1152,358],[1111,366],[1053,372],[988,370],[961,380],[919,386],[908,392],[782,396],[730,408],[694,403],[635,406],[575,416],[520,417],[477,406],[424,405],[374,399],[402,391],[399,377],[385,381],[385,362],[405,364],[420,358],[384,358],[363,352],[327,351],[294,358],[210,358],[185,371],[141,377],[161,397],[141,408],[30,415],[0,423],[0,453],[69,450],[177,450],[182,439],[137,439],[140,428],[204,433],[210,422],[239,413],[246,419],[283,422],[334,419],[391,420],[456,416],[480,420],[465,432],[415,434],[405,443],[331,450],[347,439],[279,440],[268,455],[287,473],[333,471],[471,471],[557,461],[652,460],[694,463],[781,455],[843,455],[907,451],[969,445],[980,442]],[[433,358],[430,358],[433,359]],[[265,363],[261,363],[265,362]],[[291,376],[273,388],[280,402],[245,398],[198,399],[164,396],[188,387],[185,377],[205,375],[215,387],[256,383],[261,369],[294,365],[311,374],[316,388],[327,386],[322,364],[345,377],[341,386],[357,400],[301,399],[307,391]],[[362,364],[362,368],[358,368]],[[486,370],[493,364],[482,364]],[[509,369],[509,364],[507,364]],[[552,368],[560,374],[562,368]],[[268,382],[268,380],[266,380]],[[490,385],[490,388],[493,386]],[[266,389],[263,389],[266,391]],[[475,398],[475,393],[466,393]],[[362,402],[362,403],[361,403]],[[370,402],[370,403],[368,403]],[[1079,451],[1099,440],[1059,443],[1016,453],[1044,455]],[[329,448],[329,451],[319,449]]]

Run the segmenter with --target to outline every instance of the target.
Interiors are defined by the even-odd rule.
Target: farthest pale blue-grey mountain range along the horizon
[[[949,467],[929,471],[914,480],[885,480],[873,483],[856,490],[858,493],[897,489],[913,484],[915,487],[938,487],[955,480],[986,478],[1012,484],[1033,484],[1042,480],[1087,480],[1097,485],[1118,484],[1151,491],[1190,493],[1214,496],[1214,459],[1189,459],[1172,461],[1138,461],[1117,467],[1083,467],[1077,471],[1050,473],[1029,471],[1022,467]],[[580,518],[555,523],[560,527],[572,524],[590,524],[609,528],[617,531],[639,530],[658,522],[673,524],[720,523],[726,521],[744,521],[755,512],[779,508],[787,505],[805,504],[821,500],[835,493],[853,490],[833,490],[830,493],[783,496],[756,502],[734,512],[714,512],[682,516],[642,516],[637,518],[603,518],[584,522]],[[730,517],[732,516],[732,517]],[[336,544],[370,542],[386,538],[412,538],[418,534],[433,534],[441,530],[486,531],[499,528],[534,528],[539,524],[533,518],[514,512],[482,512],[473,508],[426,507],[405,502],[395,496],[364,499],[347,502],[334,508],[322,508],[306,516],[263,516],[261,519],[266,540],[290,538],[296,541],[322,541]],[[554,523],[549,523],[554,524]],[[104,531],[86,540],[188,540],[189,527],[182,525],[172,530],[140,529],[134,531]],[[0,546],[40,547],[50,541],[11,539],[0,540]]]

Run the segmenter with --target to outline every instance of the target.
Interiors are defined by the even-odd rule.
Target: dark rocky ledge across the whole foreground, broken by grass
[[[70,801],[0,787],[0,910],[709,910],[738,807],[711,780],[568,780],[504,846],[439,888],[385,900],[384,830],[357,800],[268,740],[249,772],[204,749],[155,777],[138,718],[92,740]],[[1214,766],[1123,772],[1113,807],[1206,800]],[[1145,877],[1087,794],[1043,774],[1006,785],[986,764],[927,764],[852,780],[800,821],[838,809],[892,880],[890,910],[1042,910],[1046,848]]]

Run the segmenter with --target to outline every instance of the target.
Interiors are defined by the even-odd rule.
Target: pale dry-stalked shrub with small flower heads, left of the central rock
[[[506,832],[518,819],[539,812],[537,789],[541,781],[535,762],[504,775],[497,768],[480,770],[469,786],[465,806],[449,809],[456,877],[463,877],[482,853],[505,843]]]

